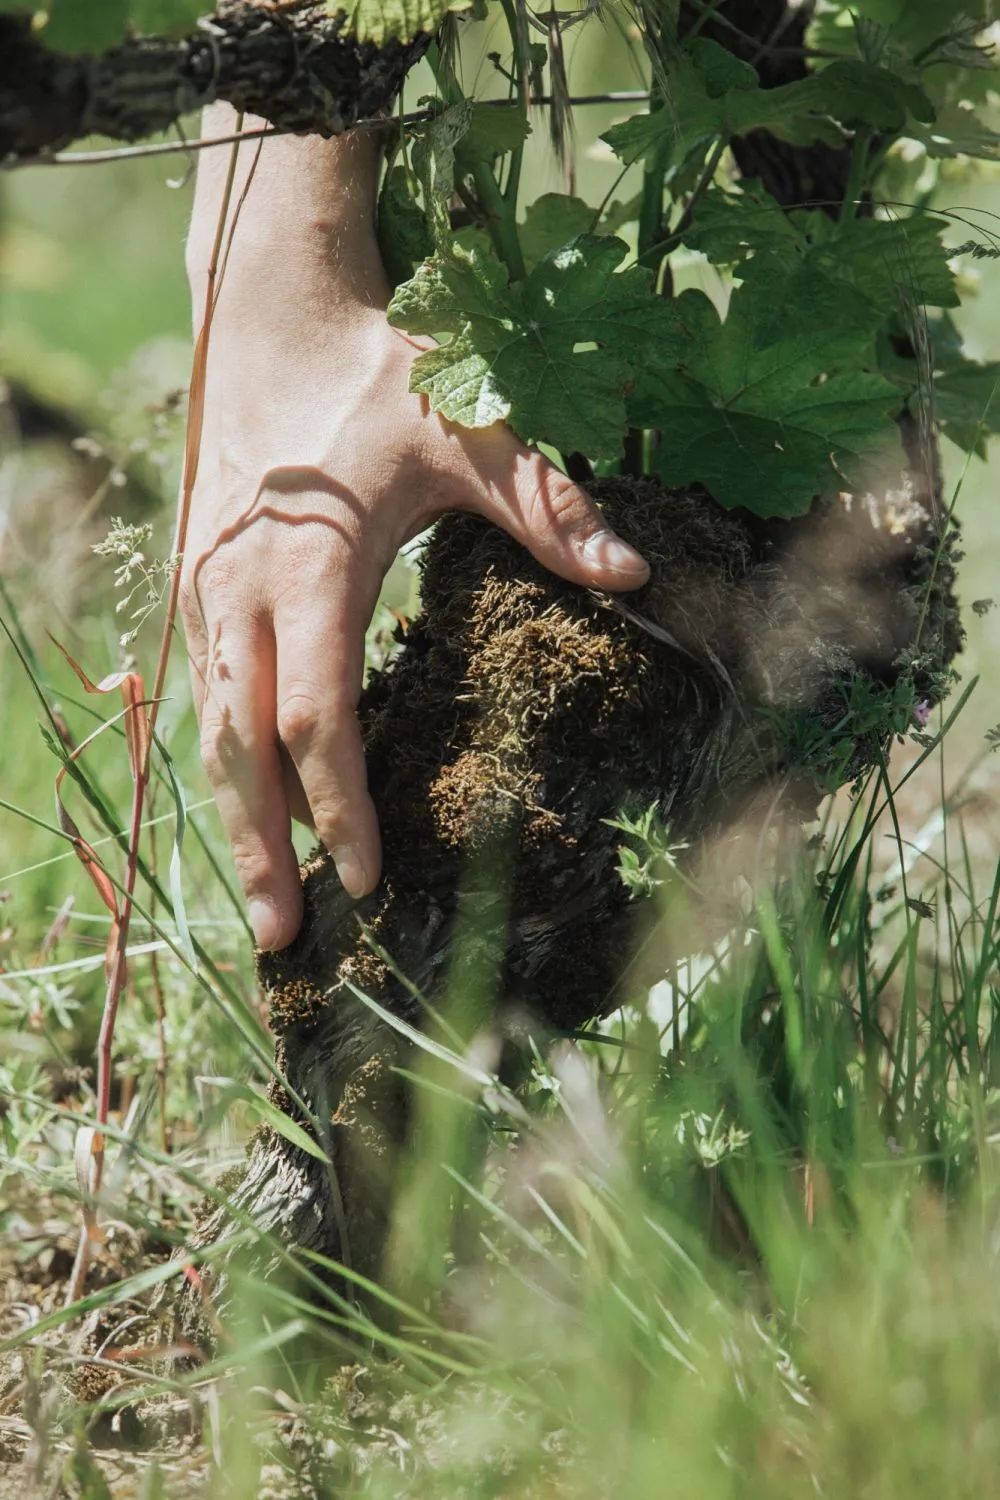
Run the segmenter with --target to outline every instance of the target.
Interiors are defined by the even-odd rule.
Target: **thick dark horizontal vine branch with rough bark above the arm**
[[[223,99],[283,130],[336,135],[384,110],[427,36],[360,44],[322,0],[222,0],[190,36],[132,38],[97,57],[51,52],[0,15],[0,159],[84,135],[133,141]]]

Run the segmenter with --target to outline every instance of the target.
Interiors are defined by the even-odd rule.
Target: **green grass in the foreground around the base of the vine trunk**
[[[391,1292],[333,1290],[315,1257],[294,1275],[237,1270],[238,1317],[210,1362],[174,1358],[166,1323],[151,1338],[139,1310],[180,1280],[184,1262],[163,1257],[223,1191],[253,1112],[246,1089],[174,1086],[168,1154],[141,1077],[114,1130],[115,1233],[93,1290],[34,1324],[7,1312],[3,1348],[36,1392],[13,1440],[87,1496],[103,1492],[115,1424],[159,1452],[154,1480],[147,1450],[129,1462],[168,1496],[991,1494],[1000,867],[955,806],[915,826],[906,801],[961,708],[895,783],[885,766],[775,856],[697,963],[586,1040],[540,1042],[516,1090],[487,1030],[462,1047],[447,1017],[429,1024]],[[211,963],[196,988],[169,897],[156,916],[150,894],[171,993],[246,1005]],[[664,921],[697,894],[669,891]],[[453,996],[466,1016],[489,1000],[480,981]],[[87,1086],[52,1094],[64,1020],[48,1017],[27,1080],[16,1046],[3,1065],[9,1244],[37,1234],[22,1302],[39,1220],[72,1224],[79,1197],[67,1156]],[[72,1330],[90,1318],[114,1354],[136,1317],[141,1347],[102,1384]],[[175,1431],[192,1420],[204,1446],[184,1478]]]

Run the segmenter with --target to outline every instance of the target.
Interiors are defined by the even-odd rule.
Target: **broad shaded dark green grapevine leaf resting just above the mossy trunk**
[[[900,393],[879,374],[864,300],[841,288],[757,272],[733,292],[726,322],[702,292],[673,306],[673,364],[639,376],[637,426],[663,432],[670,484],[702,483],[723,506],[795,516],[817,494],[870,488],[895,456]]]

